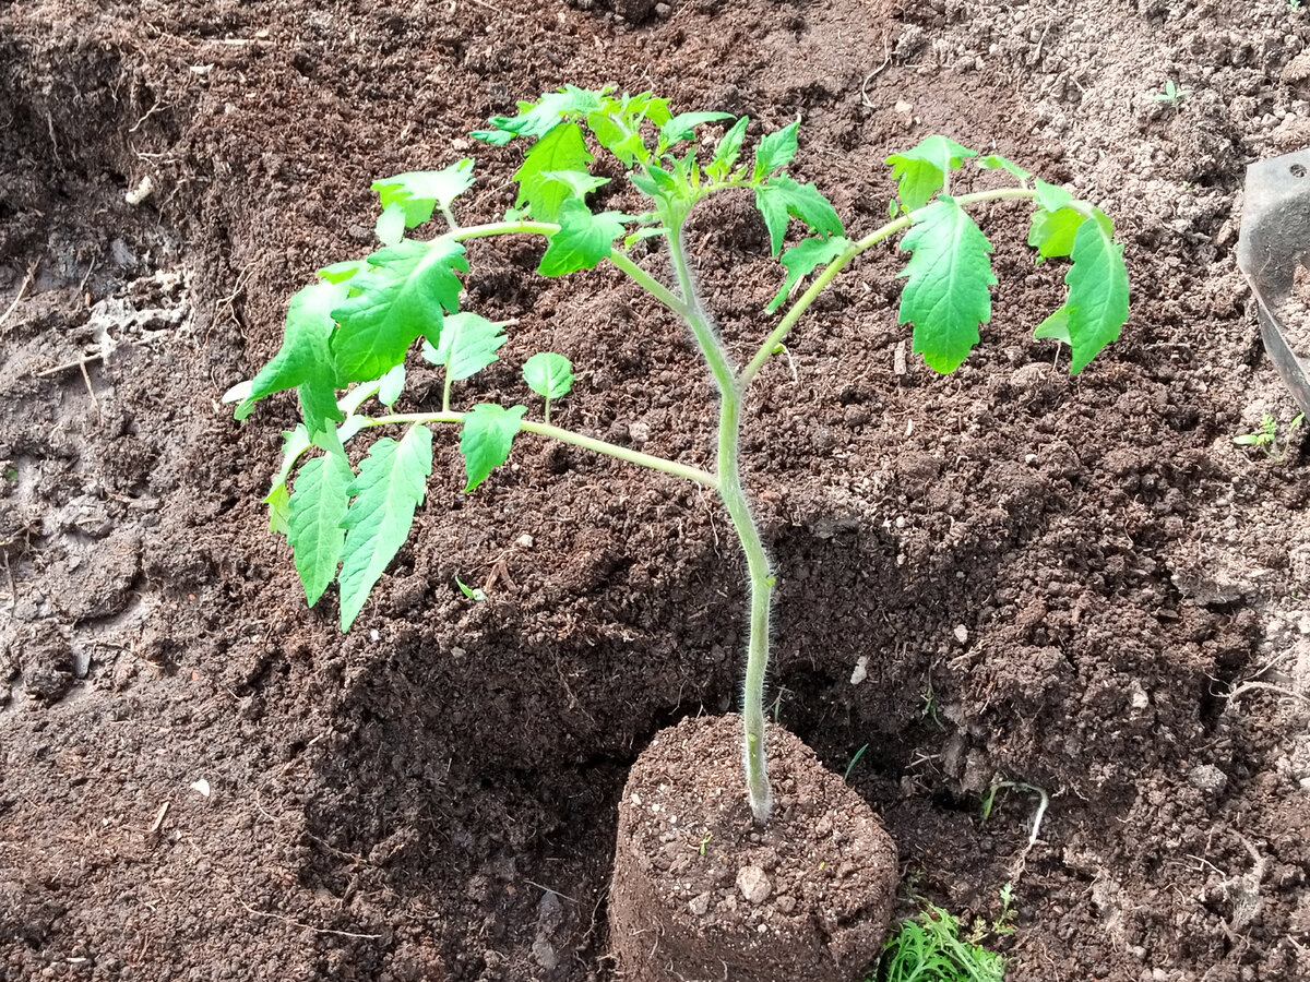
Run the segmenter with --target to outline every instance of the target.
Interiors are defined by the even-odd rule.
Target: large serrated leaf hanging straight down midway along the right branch
[[[913,253],[899,276],[900,323],[914,323],[914,352],[930,368],[955,371],[992,317],[992,244],[955,199],[939,196],[901,240]]]

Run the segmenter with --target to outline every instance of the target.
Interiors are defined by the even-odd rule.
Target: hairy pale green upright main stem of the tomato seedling
[[[685,216],[684,216],[685,217]],[[715,386],[719,390],[719,446],[718,446],[718,491],[727,509],[732,529],[745,553],[747,571],[751,577],[751,627],[747,643],[745,683],[741,691],[741,719],[744,741],[741,759],[745,770],[747,796],[751,813],[758,825],[769,821],[773,810],[773,793],[769,790],[768,755],[764,744],[764,678],[769,668],[769,604],[773,594],[773,570],[769,554],[760,537],[755,515],[741,486],[739,448],[741,445],[741,397],[744,388],[739,385],[727,352],[714,333],[714,325],[701,302],[696,289],[696,278],[688,264],[686,244],[683,241],[681,220],[668,221],[669,253],[673,271],[683,292],[683,316],[696,336],[705,360],[710,365]]]

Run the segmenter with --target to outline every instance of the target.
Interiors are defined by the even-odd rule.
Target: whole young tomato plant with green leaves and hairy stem
[[[284,389],[300,397],[303,422],[287,435],[282,469],[269,495],[272,528],[291,541],[309,604],[337,579],[341,623],[348,628],[373,584],[403,543],[432,466],[434,429],[460,431],[468,483],[473,491],[528,433],[582,446],[630,464],[692,481],[713,491],[727,512],[745,555],[751,614],[743,716],[744,769],[757,821],[769,816],[770,793],[764,746],[764,680],[769,663],[769,604],[776,580],[741,483],[739,460],[745,397],[815,299],[859,255],[901,234],[910,258],[900,322],[913,323],[913,348],[938,372],[956,368],[979,343],[979,327],[992,314],[992,245],[969,217],[971,209],[1019,200],[1032,207],[1028,244],[1038,262],[1069,259],[1068,299],[1041,326],[1072,350],[1070,371],[1082,371],[1119,336],[1128,317],[1128,278],[1123,246],[1110,219],[1087,202],[1027,170],[973,151],[945,136],[930,136],[888,158],[897,196],[891,220],[861,236],[848,236],[841,217],[812,183],[790,177],[798,123],[765,134],[744,153],[749,120],[727,113],[673,114],[651,93],[620,96],[566,86],[534,102],[520,102],[514,117],[495,117],[473,136],[504,145],[527,144],[514,173],[517,196],[503,220],[460,225],[456,199],[473,185],[473,161],[438,172],[397,174],[373,189],[381,202],[377,234],[383,247],[363,259],[329,266],[320,280],[291,300],[282,348],[229,398],[244,419],[259,399]],[[717,140],[705,127],[720,127]],[[590,199],[610,178],[595,173],[596,153],[608,153],[625,175],[616,203],[600,209]],[[952,181],[965,160],[1003,172],[1005,187],[960,194]],[[613,164],[605,173],[614,173]],[[496,178],[495,185],[502,178]],[[692,271],[684,228],[700,202],[718,194],[751,194],[781,257],[786,278],[766,314],[785,309],[753,356],[739,364],[719,339],[710,306]],[[635,204],[635,207],[633,207]],[[444,228],[430,238],[410,230],[439,215]],[[787,242],[789,232],[800,238]],[[523,405],[477,403],[453,410],[451,384],[472,377],[498,359],[503,327],[458,310],[465,245],[496,236],[538,236],[546,247],[544,276],[608,263],[647,291],[688,326],[719,397],[717,460],[702,470],[618,446],[554,426],[552,401],[571,385],[571,367],[558,355],[528,359],[524,377],[544,397],[542,420]],[[668,282],[638,262],[634,246],[650,240],[663,250]],[[808,285],[806,282],[808,280]],[[796,296],[799,293],[799,296]],[[444,371],[441,406],[396,412],[405,386],[405,363],[422,339],[423,356]],[[343,391],[345,390],[345,391]],[[365,406],[371,399],[380,409]],[[376,440],[356,470],[346,445],[364,431],[386,427],[396,436]],[[305,454],[312,454],[299,464]],[[299,464],[299,471],[296,470]],[[293,491],[290,490],[296,473]],[[339,566],[339,571],[338,571]]]

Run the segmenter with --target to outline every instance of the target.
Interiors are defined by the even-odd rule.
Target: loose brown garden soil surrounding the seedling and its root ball
[[[888,255],[761,378],[776,712],[834,771],[869,745],[850,780],[907,900],[990,918],[1014,884],[1010,978],[1310,975],[1310,475],[1300,436],[1282,464],[1231,444],[1292,415],[1234,203],[1243,161],[1310,131],[1307,14],[614,8],[0,3],[0,978],[613,977],[627,769],[736,699],[723,517],[528,441],[464,498],[448,444],[342,638],[259,503],[291,401],[244,426],[217,403],[312,270],[369,249],[373,178],[566,81],[803,117],[798,170],[855,230],[886,213],[882,160],[933,131],[1116,217],[1133,317],[1076,380],[1031,340],[1058,272],[1006,207],[997,316],[958,374],[899,371]],[[1170,79],[1188,94],[1153,100]],[[517,149],[476,153],[490,215]],[[744,351],[779,271],[747,208],[702,221]],[[470,308],[520,318],[504,365],[561,351],[566,426],[641,423],[703,464],[681,329],[604,271],[534,278],[534,250],[473,254]],[[514,386],[500,367],[479,395]],[[465,601],[453,577],[498,563]],[[1031,848],[1030,795],[980,817],[997,778],[1051,795]]]

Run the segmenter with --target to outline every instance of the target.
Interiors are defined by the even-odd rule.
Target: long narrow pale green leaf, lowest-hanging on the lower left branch
[[[411,427],[400,441],[384,436],[360,462],[341,522],[346,529],[341,558],[343,631],[350,630],[373,584],[409,538],[431,473],[432,432],[423,426]]]

